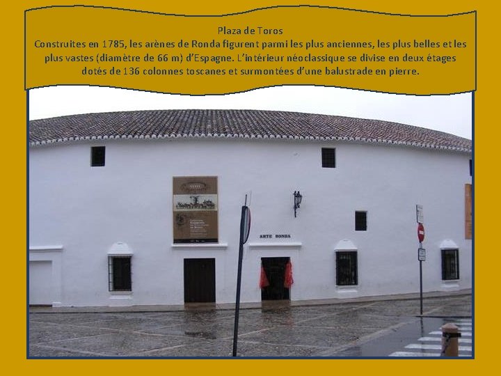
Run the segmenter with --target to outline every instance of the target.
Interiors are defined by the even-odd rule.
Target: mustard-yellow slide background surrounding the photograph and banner
[[[83,2],[83,1],[82,1]],[[81,2],[81,3],[82,3]],[[2,358],[4,372],[61,375],[74,373],[100,374],[177,374],[177,373],[214,373],[225,374],[318,374],[349,373],[367,374],[384,373],[385,375],[469,375],[489,372],[497,369],[495,365],[497,345],[497,283],[492,276],[498,272],[496,264],[498,249],[486,246],[488,231],[496,234],[494,218],[486,214],[486,200],[489,212],[498,212],[494,191],[496,184],[484,184],[484,176],[491,181],[498,174],[498,166],[492,166],[498,156],[498,93],[493,88],[498,81],[498,56],[500,45],[498,24],[498,6],[490,1],[488,6],[478,1],[271,1],[261,0],[253,3],[232,1],[214,3],[204,1],[167,3],[165,1],[86,1],[86,4],[101,6],[120,6],[123,8],[141,8],[165,12],[168,6],[173,13],[230,13],[246,10],[252,6],[290,5],[301,3],[315,5],[340,6],[364,10],[377,10],[390,13],[409,14],[449,14],[477,10],[477,93],[475,93],[475,359],[440,361],[440,360],[26,360],[26,93],[24,92],[24,9],[38,6],[72,4],[74,1],[24,1],[3,5],[2,26],[2,72],[6,87],[3,97],[8,98],[3,112],[2,140],[3,153],[3,325],[6,328],[2,336]],[[488,77],[490,75],[490,77]],[[491,164],[489,164],[491,162]],[[487,171],[489,169],[489,171]],[[490,173],[488,175],[488,173]],[[497,217],[497,216],[496,216]],[[491,219],[491,220],[490,220]],[[486,260],[491,267],[486,267]],[[491,287],[492,286],[492,287]],[[489,319],[493,327],[487,328]],[[482,370],[482,368],[486,370]]]

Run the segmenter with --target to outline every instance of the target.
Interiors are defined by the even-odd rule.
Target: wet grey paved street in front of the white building
[[[445,322],[472,316],[469,292],[243,308],[238,357],[389,357]],[[29,358],[232,357],[234,310],[31,308]],[[470,337],[471,338],[471,337]]]

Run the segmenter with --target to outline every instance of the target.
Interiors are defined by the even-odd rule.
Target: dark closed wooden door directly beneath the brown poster
[[[184,259],[184,303],[216,302],[216,259]]]

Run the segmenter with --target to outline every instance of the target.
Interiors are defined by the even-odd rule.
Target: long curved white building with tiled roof
[[[418,127],[281,111],[32,120],[29,303],[233,302],[246,198],[241,301],[418,292],[420,246],[424,291],[471,288],[471,150]]]

